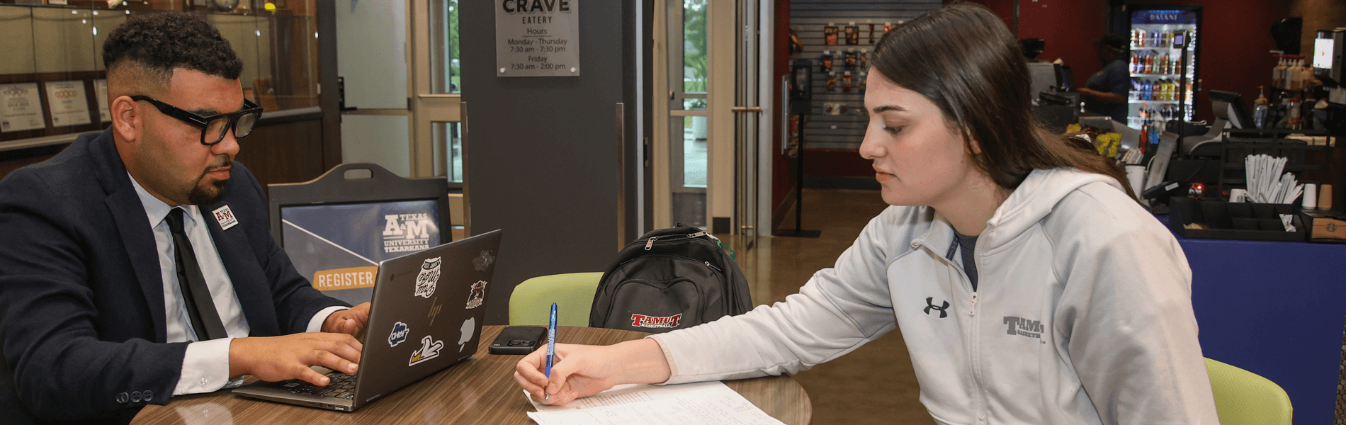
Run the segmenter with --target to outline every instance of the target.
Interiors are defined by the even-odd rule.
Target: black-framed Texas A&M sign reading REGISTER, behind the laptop
[[[271,233],[295,269],[351,304],[373,297],[380,261],[452,239],[444,178],[404,179],[357,163],[267,188]]]

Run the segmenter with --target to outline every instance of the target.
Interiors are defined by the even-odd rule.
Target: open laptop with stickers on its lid
[[[501,230],[385,260],[365,327],[359,370],[318,367],[327,386],[254,382],[234,394],[354,412],[476,354]]]

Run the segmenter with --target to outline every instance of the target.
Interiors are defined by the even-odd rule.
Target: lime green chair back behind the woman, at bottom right
[[[1289,395],[1259,374],[1206,359],[1221,425],[1291,425]]]

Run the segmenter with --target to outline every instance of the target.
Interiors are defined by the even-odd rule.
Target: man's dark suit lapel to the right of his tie
[[[229,202],[222,202],[202,207],[201,215],[206,221],[206,229],[210,230],[210,239],[215,242],[219,261],[225,264],[229,280],[234,284],[234,295],[244,309],[244,316],[248,317],[250,334],[258,336],[280,335],[271,301],[271,288],[264,285],[269,280],[261,273],[261,265],[257,264],[257,257],[249,249],[252,245],[248,243],[248,233],[242,230],[242,226],[222,230],[219,219],[213,212],[227,204]]]

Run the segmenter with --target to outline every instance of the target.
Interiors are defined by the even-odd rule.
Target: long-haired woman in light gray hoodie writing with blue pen
[[[795,373],[902,328],[940,424],[1218,424],[1191,270],[1110,159],[1040,130],[1019,43],[953,4],[879,40],[860,155],[883,200],[785,303],[520,360],[567,403],[616,383]]]

